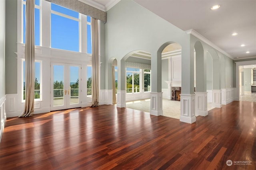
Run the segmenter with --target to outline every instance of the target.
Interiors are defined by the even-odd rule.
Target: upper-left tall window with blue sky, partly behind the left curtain
[[[35,45],[40,45],[40,10],[41,10],[41,4],[40,0],[35,0],[35,15],[34,15],[34,31],[35,31]],[[25,17],[25,11],[26,11],[26,0],[22,1],[22,43],[25,43],[25,37],[26,37],[26,17]]]

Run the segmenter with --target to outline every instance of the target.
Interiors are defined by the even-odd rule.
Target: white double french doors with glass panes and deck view
[[[80,75],[79,64],[51,63],[51,111],[81,107]]]

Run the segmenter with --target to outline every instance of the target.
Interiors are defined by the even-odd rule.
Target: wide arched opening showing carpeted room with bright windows
[[[124,104],[122,104],[123,107],[146,112],[150,111],[150,60],[151,54],[149,52],[136,50],[128,53],[121,61],[118,61],[117,100],[124,101]],[[119,92],[121,95],[120,98],[118,97]]]

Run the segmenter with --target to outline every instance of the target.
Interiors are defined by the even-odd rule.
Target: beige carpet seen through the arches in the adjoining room
[[[133,102],[126,102],[126,107],[140,111],[150,112],[150,99],[136,100]],[[208,103],[208,110],[213,109],[212,105]],[[163,99],[163,115],[180,119],[180,102]]]

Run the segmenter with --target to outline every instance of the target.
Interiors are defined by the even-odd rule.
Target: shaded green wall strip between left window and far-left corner
[[[2,6],[2,4],[1,4]],[[5,84],[6,94],[17,93],[17,0],[6,0]]]

